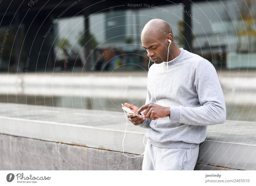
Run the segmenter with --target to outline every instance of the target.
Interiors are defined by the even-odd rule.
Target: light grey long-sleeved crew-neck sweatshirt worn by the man
[[[171,108],[170,117],[146,119],[148,142],[160,148],[194,148],[206,138],[207,125],[225,123],[226,106],[212,63],[180,48],[167,63],[153,64],[148,71],[146,104]],[[151,129],[152,128],[152,129]]]

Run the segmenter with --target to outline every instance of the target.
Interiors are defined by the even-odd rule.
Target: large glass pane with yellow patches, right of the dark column
[[[191,6],[194,51],[223,69],[256,68],[255,1],[211,1]]]

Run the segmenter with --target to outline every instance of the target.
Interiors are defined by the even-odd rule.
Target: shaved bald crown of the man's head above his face
[[[141,32],[141,42],[147,41],[150,38],[155,40],[166,39],[168,34],[172,34],[172,28],[162,19],[151,19],[144,26]]]

